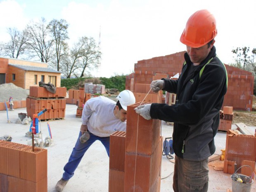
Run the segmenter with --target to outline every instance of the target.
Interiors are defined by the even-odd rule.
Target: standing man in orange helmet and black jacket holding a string
[[[216,20],[209,11],[192,14],[180,37],[187,46],[180,77],[163,78],[150,85],[154,92],[175,93],[175,104],[152,103],[135,108],[145,119],[174,122],[174,192],[208,190],[208,158],[216,149],[214,136],[228,85],[225,66],[216,56],[216,35]]]

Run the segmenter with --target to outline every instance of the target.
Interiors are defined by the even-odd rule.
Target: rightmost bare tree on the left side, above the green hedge
[[[90,69],[92,67],[98,67],[99,60],[101,59],[101,52],[98,50],[95,40],[92,37],[79,38],[79,42],[81,44],[81,57],[78,59],[78,66],[81,72],[80,77],[83,77],[86,68]]]

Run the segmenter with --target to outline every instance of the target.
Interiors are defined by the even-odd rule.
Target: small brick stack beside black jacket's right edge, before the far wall
[[[223,107],[223,111],[220,110],[220,123],[218,130],[228,131],[229,129],[231,129],[233,116],[233,107]]]

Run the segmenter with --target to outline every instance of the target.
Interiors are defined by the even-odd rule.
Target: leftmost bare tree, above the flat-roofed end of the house
[[[27,50],[28,36],[24,31],[19,31],[17,28],[8,28],[11,40],[3,44],[3,51],[5,56],[18,58],[20,55],[24,55]]]

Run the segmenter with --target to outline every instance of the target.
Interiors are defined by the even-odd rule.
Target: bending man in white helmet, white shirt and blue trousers
[[[74,175],[78,164],[88,148],[96,140],[104,145],[109,156],[109,137],[116,131],[126,131],[127,106],[135,103],[135,97],[130,90],[123,90],[114,102],[107,97],[93,97],[83,107],[82,125],[76,145],[64,166],[61,180],[55,186],[59,192]]]

